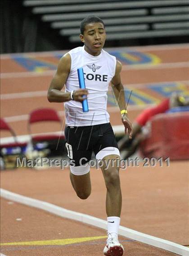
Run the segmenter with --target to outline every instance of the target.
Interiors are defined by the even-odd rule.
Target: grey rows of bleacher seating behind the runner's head
[[[108,41],[189,35],[188,0],[25,0],[23,5],[70,42],[80,41],[78,24],[90,14],[103,19]]]

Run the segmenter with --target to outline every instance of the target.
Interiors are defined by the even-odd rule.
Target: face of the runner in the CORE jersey
[[[106,40],[106,32],[102,23],[89,23],[85,26],[81,41],[85,44],[85,50],[94,56],[100,54]]]

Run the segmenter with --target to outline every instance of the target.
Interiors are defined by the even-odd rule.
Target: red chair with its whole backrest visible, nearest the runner
[[[53,133],[47,133],[47,134],[40,134],[40,135],[32,135],[31,133],[31,124],[33,123],[39,123],[39,122],[47,122],[47,121],[53,121],[58,122],[60,124],[60,128],[62,128],[62,122],[57,114],[57,112],[54,109],[50,108],[42,108],[33,110],[29,115],[28,120],[28,133],[31,135],[31,143],[34,145],[37,142],[44,142],[44,141],[56,141],[56,144],[58,144],[62,141],[64,142],[64,135],[61,134],[53,134]],[[57,149],[56,149],[57,150]]]

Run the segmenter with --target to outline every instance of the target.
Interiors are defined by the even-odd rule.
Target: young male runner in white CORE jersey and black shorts
[[[106,32],[100,18],[86,17],[80,29],[80,39],[84,46],[70,50],[60,59],[49,87],[48,100],[64,102],[66,147],[69,158],[75,162],[75,166],[70,166],[70,179],[78,197],[86,199],[90,196],[90,166],[87,163],[92,151],[97,160],[111,163],[108,168],[105,164],[101,167],[107,187],[108,216],[108,239],[103,253],[106,256],[122,256],[124,250],[118,241],[121,187],[119,166],[115,164],[120,153],[106,110],[108,84],[111,82],[121,110],[122,123],[131,138],[132,124],[127,117],[120,78],[121,63],[102,49]],[[86,89],[79,89],[77,69],[81,67],[84,70]],[[61,91],[64,84],[65,92]],[[89,112],[83,113],[81,102],[85,98],[88,100]]]

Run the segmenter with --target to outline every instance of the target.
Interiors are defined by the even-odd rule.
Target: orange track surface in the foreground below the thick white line
[[[11,241],[36,241],[36,240],[50,240],[49,245],[38,245],[31,242],[30,245],[12,245],[3,246],[2,252],[9,256],[73,256],[73,255],[87,255],[98,256],[102,255],[103,247],[105,245],[104,239],[91,239],[88,242],[77,242],[74,238],[85,237],[102,237],[104,231],[94,228],[92,226],[81,224],[76,221],[62,219],[60,217],[50,215],[49,213],[41,210],[36,210],[31,207],[23,206],[18,203],[8,204],[9,201],[2,199],[2,229],[4,235],[2,242]],[[7,217],[8,215],[8,217]],[[22,219],[18,221],[16,219]],[[37,218],[36,218],[37,216]],[[40,223],[40,225],[38,225]],[[10,230],[11,226],[11,230]],[[20,232],[20,229],[22,232]],[[67,232],[65,232],[67,230]],[[67,242],[65,245],[56,245],[57,239],[73,238],[72,241]],[[62,242],[62,243],[63,243]],[[120,237],[120,242],[126,249],[126,255],[146,255],[146,256],[172,256],[175,255],[171,252],[157,249],[155,247],[144,245],[143,243],[134,240]]]

